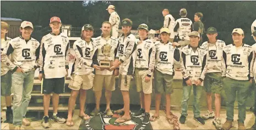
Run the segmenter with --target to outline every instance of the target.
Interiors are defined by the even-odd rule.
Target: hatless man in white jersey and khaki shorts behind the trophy
[[[97,57],[96,60],[100,63],[101,60],[112,60],[115,61],[117,50],[118,50],[118,39],[110,35],[111,31],[111,23],[108,21],[105,21],[102,23],[102,35],[94,39],[94,44],[96,44],[97,50]],[[110,55],[105,56],[102,52],[102,47],[105,45],[111,46],[110,49]],[[92,60],[95,60],[95,58],[92,58]],[[113,64],[115,64],[114,62]],[[100,65],[99,65],[100,66]],[[94,76],[94,93],[95,93],[95,100],[96,100],[96,107],[93,111],[91,111],[91,115],[95,116],[99,114],[100,112],[100,99],[101,99],[101,93],[102,93],[102,87],[105,87],[105,97],[106,97],[106,113],[108,116],[112,116],[113,112],[110,109],[110,101],[112,96],[112,91],[115,91],[115,75],[118,75],[117,70],[110,70],[101,68],[101,70],[95,70],[95,76]]]

